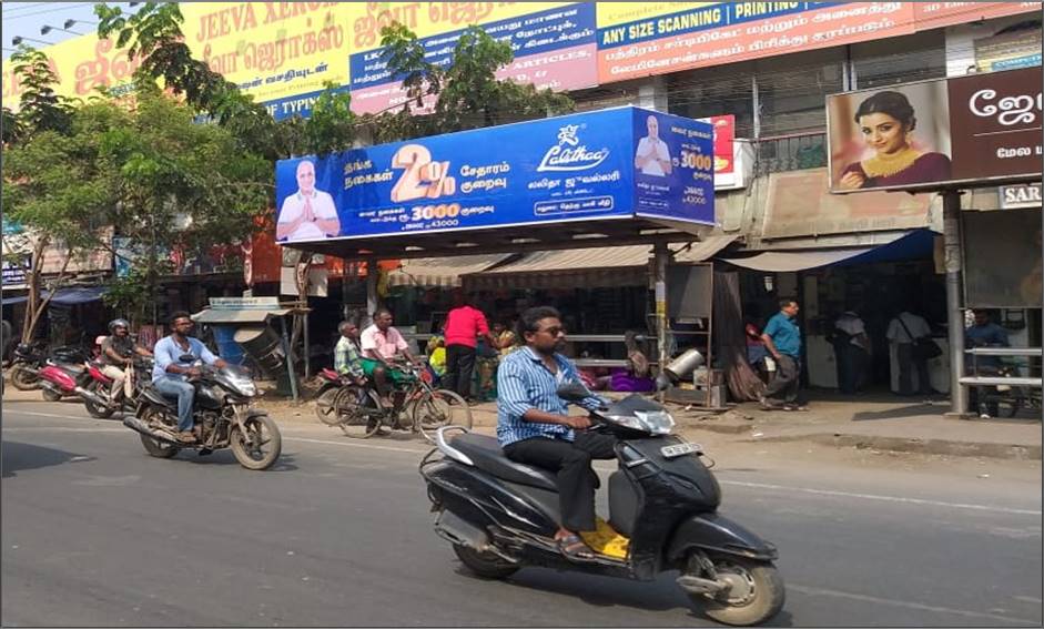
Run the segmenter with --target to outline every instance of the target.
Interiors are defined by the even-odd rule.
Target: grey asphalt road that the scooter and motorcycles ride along
[[[473,578],[432,531],[422,443],[283,435],[256,473],[229,452],[149,458],[78,405],[4,403],[3,626],[714,626],[669,575]],[[770,625],[1041,625],[1038,461],[717,458],[722,511],[780,548]]]

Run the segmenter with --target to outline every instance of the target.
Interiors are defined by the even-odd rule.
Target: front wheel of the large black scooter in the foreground
[[[722,625],[749,627],[776,616],[783,607],[783,578],[771,561],[740,557],[711,557],[718,579],[729,589],[717,596],[689,595],[703,612]]]

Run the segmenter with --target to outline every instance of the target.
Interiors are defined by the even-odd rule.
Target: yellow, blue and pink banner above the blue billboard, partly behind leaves
[[[555,91],[589,88],[595,74],[594,2],[367,2],[354,4],[353,50],[348,60],[352,110],[376,113],[406,101],[402,77],[382,59],[381,28],[397,21],[424,45],[424,59],[448,67],[469,24],[480,26],[497,41],[511,45],[515,59],[498,79],[531,83]],[[425,103],[430,106],[434,99]],[[424,111],[423,109],[419,111]]]

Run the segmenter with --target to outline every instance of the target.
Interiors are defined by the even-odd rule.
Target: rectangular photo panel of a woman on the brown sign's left
[[[831,192],[951,179],[945,82],[837,94],[828,98],[827,111]]]

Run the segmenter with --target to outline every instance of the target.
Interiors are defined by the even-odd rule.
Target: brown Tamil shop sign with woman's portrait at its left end
[[[828,97],[830,191],[1040,180],[1041,88],[1037,67]]]

